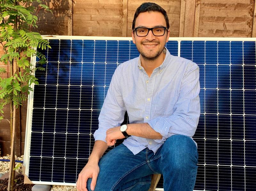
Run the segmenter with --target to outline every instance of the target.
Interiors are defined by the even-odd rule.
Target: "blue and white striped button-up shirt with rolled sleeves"
[[[162,139],[130,136],[123,144],[137,154],[156,151],[175,134],[192,138],[200,115],[199,67],[166,49],[164,62],[150,77],[140,56],[120,64],[112,77],[94,138],[106,142],[107,129],[119,126],[127,111],[130,123],[148,123]]]

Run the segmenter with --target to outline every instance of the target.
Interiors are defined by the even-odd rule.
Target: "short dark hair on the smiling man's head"
[[[137,8],[137,10],[134,14],[133,21],[132,21],[132,30],[135,27],[135,21],[136,21],[136,18],[138,17],[138,15],[143,12],[151,12],[151,11],[156,11],[156,12],[162,13],[164,15],[164,19],[166,21],[166,27],[167,27],[167,29],[169,29],[170,25],[169,25],[169,19],[168,19],[166,11],[160,5],[148,2],[148,3],[141,4]]]

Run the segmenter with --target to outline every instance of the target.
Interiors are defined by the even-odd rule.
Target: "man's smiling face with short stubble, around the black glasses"
[[[142,12],[135,21],[135,28],[146,27],[153,28],[156,26],[165,26],[164,15],[160,12]],[[168,42],[170,31],[165,31],[163,36],[154,36],[152,31],[147,36],[140,37],[136,32],[132,32],[132,41],[142,57],[146,60],[155,60],[163,52],[164,45]]]

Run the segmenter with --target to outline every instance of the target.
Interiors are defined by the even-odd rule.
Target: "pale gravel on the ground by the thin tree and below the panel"
[[[23,161],[23,155],[20,157],[15,156],[15,160],[20,160]],[[11,156],[7,154],[6,156],[0,157],[0,159],[9,159],[10,160]],[[22,172],[22,163],[15,163],[15,166],[20,164],[20,167],[16,170],[17,173]],[[7,173],[9,171],[9,162],[5,161],[0,161],[0,173]],[[50,191],[77,191],[76,187],[74,186],[60,186],[60,185],[52,185],[52,188]]]

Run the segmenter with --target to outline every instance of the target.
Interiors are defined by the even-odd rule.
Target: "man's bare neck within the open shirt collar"
[[[165,58],[164,51],[155,60],[148,60],[140,56],[141,66],[147,72],[148,77],[151,76],[155,68],[159,67],[164,62],[164,58]]]

